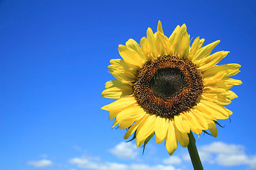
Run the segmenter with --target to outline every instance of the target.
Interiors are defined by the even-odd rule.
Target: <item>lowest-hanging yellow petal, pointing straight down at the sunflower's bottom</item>
[[[177,148],[177,141],[174,129],[174,123],[172,120],[169,120],[169,127],[165,139],[166,149],[170,155],[174,154]]]

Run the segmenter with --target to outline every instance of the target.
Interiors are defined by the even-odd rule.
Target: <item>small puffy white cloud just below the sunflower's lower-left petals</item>
[[[110,152],[122,159],[135,159],[137,157],[138,151],[136,145],[131,142],[121,142]]]

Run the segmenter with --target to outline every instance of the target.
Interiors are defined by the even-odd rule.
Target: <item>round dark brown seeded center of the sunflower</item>
[[[165,55],[144,64],[133,90],[146,113],[174,118],[200,101],[203,77],[191,61]]]

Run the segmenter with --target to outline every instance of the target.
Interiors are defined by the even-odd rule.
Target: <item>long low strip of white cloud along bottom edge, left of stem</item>
[[[82,169],[95,170],[176,170],[174,166],[156,165],[149,166],[146,164],[119,164],[114,162],[99,162],[87,159],[85,157],[73,158],[69,160],[70,164],[75,164]]]

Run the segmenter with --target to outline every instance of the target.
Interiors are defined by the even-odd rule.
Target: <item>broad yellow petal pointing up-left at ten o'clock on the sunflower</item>
[[[137,65],[138,67],[142,67],[144,64],[142,57],[140,57],[140,55],[131,48],[124,45],[119,45],[118,50],[121,57],[128,64]]]

